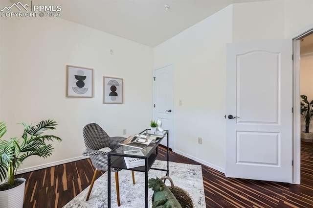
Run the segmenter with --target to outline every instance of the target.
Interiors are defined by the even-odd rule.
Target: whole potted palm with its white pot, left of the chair
[[[45,130],[54,130],[57,122],[43,120],[36,126],[21,123],[24,127],[20,138],[0,139],[0,208],[22,208],[25,179],[15,179],[16,170],[22,162],[32,155],[47,158],[54,151],[46,141],[61,141],[54,135],[42,135]],[[0,138],[6,133],[6,125],[0,122]]]

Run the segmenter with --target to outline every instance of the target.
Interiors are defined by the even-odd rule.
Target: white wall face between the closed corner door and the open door
[[[174,63],[175,152],[219,170],[225,161],[225,47],[232,41],[231,18],[229,6],[154,48],[155,69]]]

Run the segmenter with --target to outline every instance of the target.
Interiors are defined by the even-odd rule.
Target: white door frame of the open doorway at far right
[[[292,123],[292,145],[293,145],[293,167],[292,184],[300,184],[301,179],[301,112],[300,112],[300,40],[313,34],[313,24],[292,35],[293,54],[293,123]]]

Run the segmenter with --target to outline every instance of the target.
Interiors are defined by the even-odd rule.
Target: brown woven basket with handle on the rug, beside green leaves
[[[171,185],[167,186],[173,195],[176,197],[177,201],[179,202],[182,208],[195,208],[194,201],[187,191],[178,186],[174,185],[173,180],[169,176],[163,176],[160,178],[161,180],[168,179],[171,182]],[[153,196],[152,196],[153,201]],[[152,203],[150,208],[152,208]]]

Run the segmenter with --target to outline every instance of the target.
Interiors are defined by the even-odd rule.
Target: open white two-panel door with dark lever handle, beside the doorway
[[[291,54],[291,40],[227,45],[226,177],[291,183]]]

